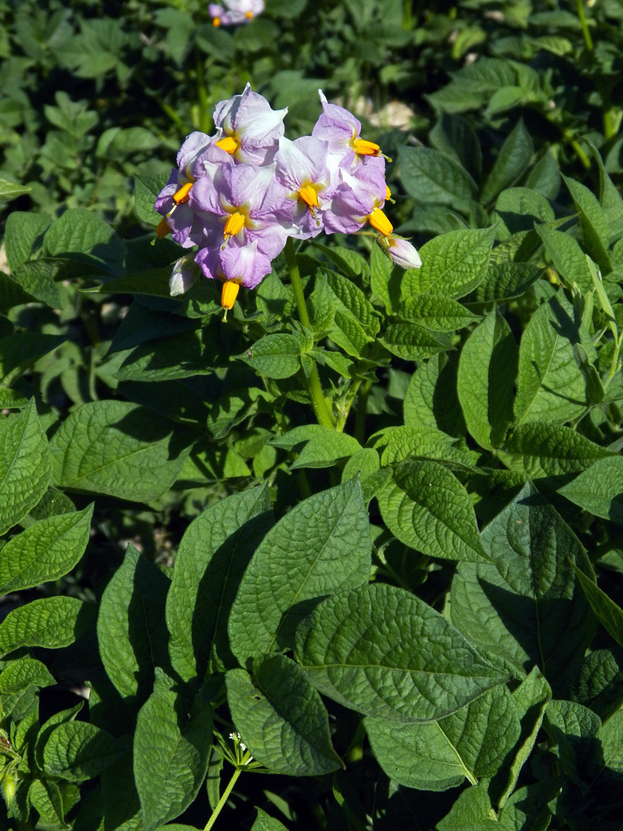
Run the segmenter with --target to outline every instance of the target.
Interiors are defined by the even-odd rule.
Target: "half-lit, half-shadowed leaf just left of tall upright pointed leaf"
[[[440,352],[420,363],[405,392],[405,426],[420,425],[448,435],[465,435],[465,420],[457,396],[457,355]]]

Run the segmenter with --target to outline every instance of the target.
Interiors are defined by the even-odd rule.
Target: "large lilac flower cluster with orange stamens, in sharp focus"
[[[214,111],[216,133],[191,133],[177,168],[160,191],[157,232],[184,248],[171,277],[171,293],[186,291],[198,276],[223,281],[222,304],[233,307],[238,288],[255,288],[288,237],[354,234],[365,224],[378,232],[385,252],[403,268],[419,256],[394,236],[383,212],[390,190],[385,157],[361,138],[361,123],[320,93],[322,114],[312,135],[283,135],[287,110],[272,110],[249,85]]]

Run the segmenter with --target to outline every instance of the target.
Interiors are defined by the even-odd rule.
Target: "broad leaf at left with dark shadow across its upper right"
[[[184,432],[172,430],[171,422],[126,401],[84,404],[52,438],[56,484],[134,502],[156,499],[189,452]]]

